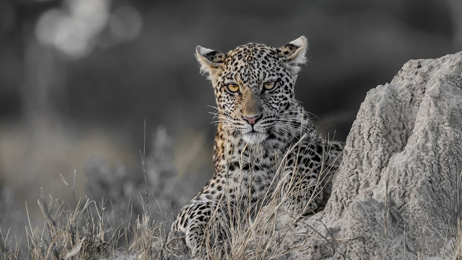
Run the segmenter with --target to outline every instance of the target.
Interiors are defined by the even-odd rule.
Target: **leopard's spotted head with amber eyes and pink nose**
[[[217,103],[217,122],[229,135],[249,143],[284,134],[294,102],[306,38],[280,48],[249,43],[227,53],[197,47]]]

